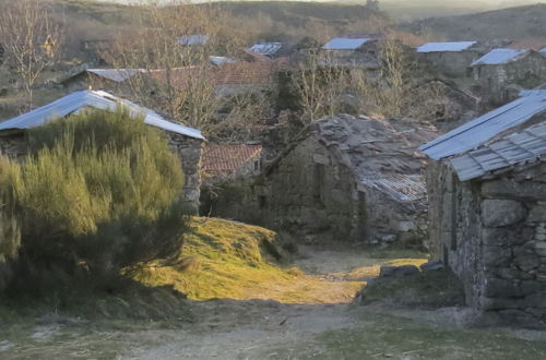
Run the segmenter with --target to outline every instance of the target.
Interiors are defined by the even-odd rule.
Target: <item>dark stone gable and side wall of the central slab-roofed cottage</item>
[[[337,160],[343,155],[336,151],[310,136],[261,179],[253,191],[264,225],[331,241],[379,244],[424,238],[424,208],[363,185]]]

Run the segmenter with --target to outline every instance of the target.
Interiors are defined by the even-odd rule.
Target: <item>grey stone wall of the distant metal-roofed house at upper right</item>
[[[546,81],[546,57],[531,52],[518,61],[474,67],[473,72],[484,99],[492,105],[503,105],[513,100],[508,86],[534,88]]]

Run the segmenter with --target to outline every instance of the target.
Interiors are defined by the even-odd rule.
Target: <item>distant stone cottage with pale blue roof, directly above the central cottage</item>
[[[377,70],[380,68],[379,55],[378,38],[334,37],[321,48],[319,64]]]

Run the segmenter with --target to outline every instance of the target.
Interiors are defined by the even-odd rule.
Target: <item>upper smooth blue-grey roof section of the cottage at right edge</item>
[[[461,154],[545,110],[546,94],[532,93],[450,131],[420,146],[419,151],[436,160]]]

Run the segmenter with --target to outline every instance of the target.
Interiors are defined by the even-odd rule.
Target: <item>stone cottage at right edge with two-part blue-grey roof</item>
[[[546,92],[424,145],[429,249],[486,319],[546,321]]]

